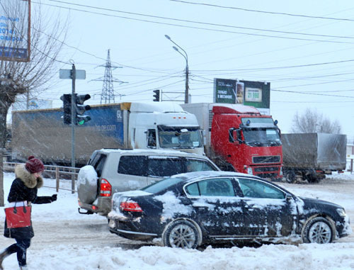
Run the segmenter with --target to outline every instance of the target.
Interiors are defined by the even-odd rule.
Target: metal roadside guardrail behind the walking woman
[[[15,167],[17,162],[4,162],[4,171],[15,171]],[[58,192],[60,188],[60,177],[64,179],[72,179],[72,189],[65,189],[71,190],[72,193],[75,193],[75,181],[77,180],[77,175],[79,174],[80,168],[74,167],[64,167],[64,166],[54,166],[54,165],[45,165],[45,171],[43,171],[43,176],[47,178],[55,179],[55,189]],[[47,186],[50,187],[51,186]]]

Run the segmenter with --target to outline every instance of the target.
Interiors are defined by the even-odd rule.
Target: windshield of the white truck
[[[159,144],[161,148],[202,147],[198,128],[176,128],[159,126]]]

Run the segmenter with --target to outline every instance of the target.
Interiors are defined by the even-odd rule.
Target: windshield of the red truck
[[[275,128],[244,128],[244,140],[250,146],[281,145],[280,135]]]

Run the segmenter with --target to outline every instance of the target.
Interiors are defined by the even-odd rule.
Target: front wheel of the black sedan
[[[304,243],[327,244],[333,241],[333,228],[329,220],[322,217],[312,218],[304,227]]]

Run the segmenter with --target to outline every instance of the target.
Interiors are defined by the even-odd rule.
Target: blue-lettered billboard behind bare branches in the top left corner
[[[30,0],[0,0],[0,60],[30,60]]]

